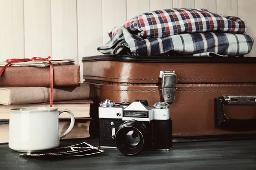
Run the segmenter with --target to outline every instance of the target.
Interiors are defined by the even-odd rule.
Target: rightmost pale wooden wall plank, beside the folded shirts
[[[256,10],[255,10],[256,0],[238,0],[238,15],[243,18],[248,31],[246,34],[250,35],[254,39],[253,49],[247,54],[247,57],[256,57]]]

